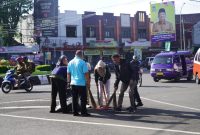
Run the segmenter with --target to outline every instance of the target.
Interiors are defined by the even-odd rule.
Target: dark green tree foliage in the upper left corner
[[[29,14],[32,8],[32,0],[0,0],[0,35],[5,46],[15,43],[13,37],[18,32],[18,22],[23,15]]]

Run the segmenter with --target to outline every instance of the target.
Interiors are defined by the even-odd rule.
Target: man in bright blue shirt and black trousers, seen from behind
[[[87,90],[86,86],[89,85],[89,72],[87,64],[82,60],[82,51],[77,50],[74,59],[72,59],[67,67],[67,79],[72,86],[73,98],[73,114],[79,116],[78,113],[78,98],[81,97],[81,115],[90,116],[87,113]]]

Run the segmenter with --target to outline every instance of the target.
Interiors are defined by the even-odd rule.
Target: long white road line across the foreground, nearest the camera
[[[162,129],[162,128],[151,128],[151,127],[142,127],[142,126],[130,126],[130,125],[111,124],[111,123],[85,122],[85,121],[73,121],[73,120],[59,120],[59,119],[48,119],[48,118],[29,117],[29,116],[17,116],[17,115],[8,115],[8,114],[0,114],[0,116],[2,116],[2,117],[20,118],[20,119],[41,120],[41,121],[76,123],[76,124],[110,126],[110,127],[121,127],[121,128],[143,129],[143,130],[151,130],[151,131],[164,131],[164,132],[200,135],[200,132],[192,132],[192,131],[184,131],[184,130],[172,130],[172,129]]]

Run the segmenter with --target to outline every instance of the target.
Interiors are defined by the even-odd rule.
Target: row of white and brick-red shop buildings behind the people
[[[200,20],[200,14],[182,15],[181,27],[179,17],[176,15],[176,41],[171,47],[191,49],[192,28]],[[140,59],[144,59],[164,50],[164,43],[150,41],[152,24],[145,11],[138,11],[133,17],[130,14],[114,16],[113,13],[96,15],[88,11],[84,14],[65,11],[58,13],[57,25],[57,37],[41,36],[42,52],[50,52],[49,61],[55,62],[61,54],[71,59],[77,49],[82,49],[91,63],[96,63],[102,56],[110,60],[114,53],[130,59],[137,53]]]

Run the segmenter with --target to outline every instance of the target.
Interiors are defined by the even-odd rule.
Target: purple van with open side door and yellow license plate
[[[160,79],[178,81],[192,80],[193,57],[190,51],[170,51],[157,54],[151,64],[150,73],[155,82]]]

